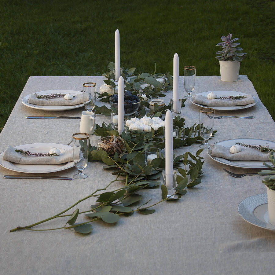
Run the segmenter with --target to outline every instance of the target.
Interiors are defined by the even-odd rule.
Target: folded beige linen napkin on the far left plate
[[[85,101],[89,101],[90,94],[84,93]],[[37,94],[31,94],[28,103],[35,105],[77,105],[84,103],[83,94],[75,94],[73,99],[65,99],[64,97],[56,97],[51,99],[36,98]]]

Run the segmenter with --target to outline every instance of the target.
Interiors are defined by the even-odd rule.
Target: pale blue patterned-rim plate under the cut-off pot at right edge
[[[238,212],[245,221],[275,231],[275,226],[268,222],[266,193],[244,199],[238,206]]]

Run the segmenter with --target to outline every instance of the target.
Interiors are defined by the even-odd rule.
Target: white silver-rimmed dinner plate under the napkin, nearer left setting
[[[22,149],[25,151],[30,152],[45,152],[48,153],[50,149],[57,147],[62,152],[65,152],[67,150],[70,150],[72,147],[64,144],[58,144],[58,143],[31,143],[31,144],[24,144],[15,146],[16,149]],[[5,167],[6,169],[16,171],[16,172],[23,172],[23,173],[51,173],[51,172],[57,172],[62,171],[68,168],[71,168],[74,166],[74,162],[67,162],[67,163],[61,163],[61,164],[18,164],[14,162],[10,162],[7,160],[3,160],[3,154],[2,152],[0,154],[0,165],[2,167]]]

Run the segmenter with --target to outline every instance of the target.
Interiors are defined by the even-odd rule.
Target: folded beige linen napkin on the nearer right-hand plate
[[[226,148],[222,145],[212,144],[210,148],[211,156],[218,158],[224,158],[226,160],[259,160],[267,161],[269,160],[269,152],[261,152],[257,149],[242,147],[242,150],[238,153],[230,153],[230,148]]]

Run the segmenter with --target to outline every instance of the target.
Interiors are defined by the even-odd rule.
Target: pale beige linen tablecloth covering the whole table
[[[84,108],[50,112],[26,107],[22,98],[28,94],[53,89],[82,90],[82,83],[103,77],[30,77],[2,133],[0,149],[34,142],[67,144],[79,131],[79,119],[26,119],[26,116],[81,116]],[[180,98],[185,96],[180,77]],[[194,93],[233,90],[251,93],[258,103],[251,108],[215,115],[255,116],[255,119],[217,119],[217,134],[211,142],[232,138],[259,138],[275,141],[275,123],[260,101],[247,76],[237,82],[223,82],[219,76],[197,76]],[[168,103],[173,92],[167,93]],[[97,105],[103,105],[97,102]],[[109,106],[108,103],[105,105]],[[186,125],[199,122],[196,105],[186,101],[182,116]],[[97,115],[96,123],[108,123],[110,117]],[[98,137],[91,136],[96,145]],[[198,144],[175,150],[177,155],[198,150]],[[92,223],[90,235],[69,230],[10,233],[16,226],[26,226],[59,213],[76,201],[103,188],[114,179],[102,163],[88,163],[84,180],[4,179],[5,174],[22,174],[0,167],[0,263],[1,274],[274,274],[275,231],[244,221],[237,207],[249,196],[266,193],[261,176],[233,178],[222,167],[236,173],[257,172],[229,167],[211,160],[206,150],[202,183],[188,189],[175,203],[161,203],[152,215],[135,213],[117,224]],[[70,176],[76,169],[53,173]],[[119,187],[113,184],[108,190]],[[161,190],[140,191],[144,202],[161,199]],[[88,210],[95,200],[79,205]],[[64,226],[68,218],[36,227]]]

